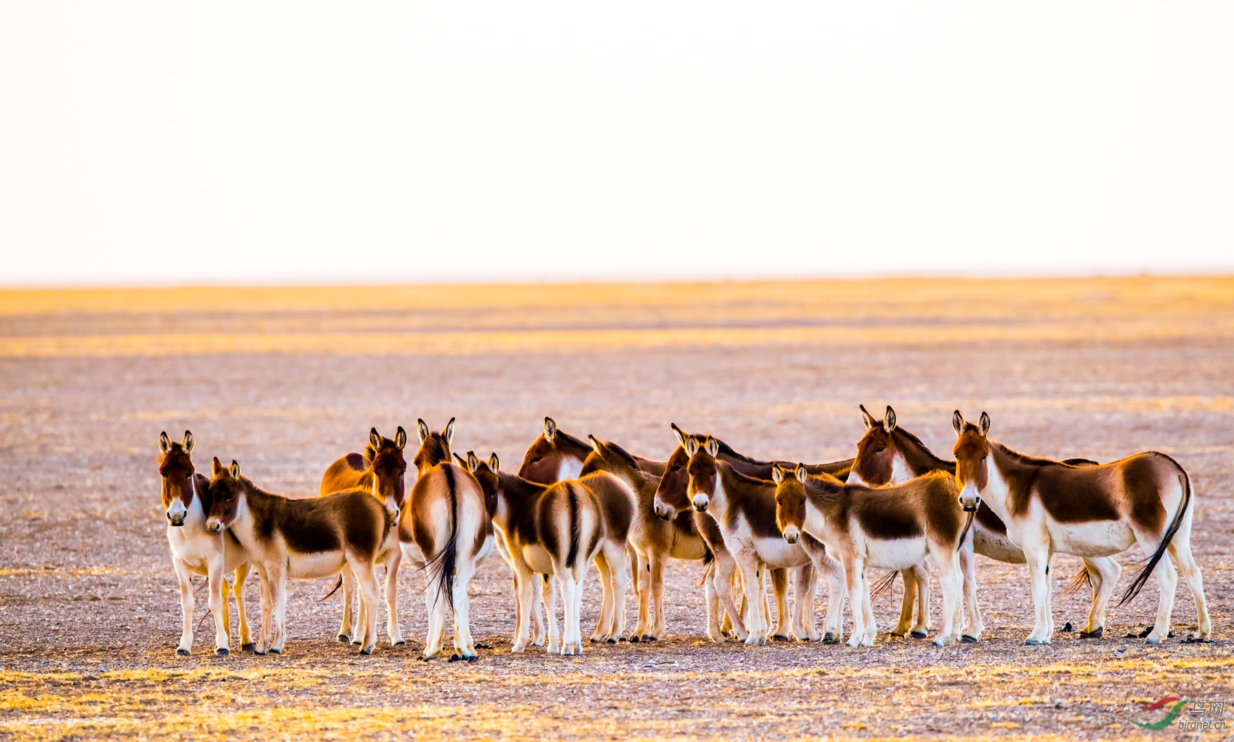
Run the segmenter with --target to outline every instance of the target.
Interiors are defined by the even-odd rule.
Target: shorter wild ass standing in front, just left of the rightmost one
[[[853,609],[849,647],[870,647],[877,633],[865,568],[898,570],[926,559],[934,563],[943,582],[943,626],[934,644],[943,647],[959,638],[956,549],[970,520],[964,517],[961,502],[964,510],[975,511],[975,495],[958,498],[951,478],[942,473],[877,489],[844,484],[829,474],[812,477],[801,464],[787,475],[776,465],[771,477],[776,483],[776,525],[784,540],[795,543],[802,535],[813,536],[844,564]]]

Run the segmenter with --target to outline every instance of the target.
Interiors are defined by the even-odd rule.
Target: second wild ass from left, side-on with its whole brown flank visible
[[[283,653],[288,641],[288,578],[317,579],[346,567],[360,584],[368,605],[360,653],[376,643],[376,577],[373,564],[395,525],[395,516],[364,490],[328,498],[291,500],[268,493],[239,473],[234,461],[225,468],[213,459],[206,530],[226,528],[244,547],[262,577],[262,636],[255,653]]]

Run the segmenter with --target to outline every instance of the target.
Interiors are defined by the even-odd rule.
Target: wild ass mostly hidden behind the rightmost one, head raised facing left
[[[856,444],[856,458],[853,459],[853,472],[848,478],[850,483],[884,486],[905,484],[914,477],[930,472],[955,474],[954,461],[938,458],[922,443],[921,438],[897,425],[896,411],[891,409],[891,405],[887,405],[882,420],[870,415],[865,405],[859,405],[859,409],[861,422],[865,423],[865,435]],[[1080,467],[1092,465],[1097,462],[1086,458],[1069,458],[1064,459],[1064,463]],[[964,572],[964,602],[967,615],[967,628],[961,638],[964,642],[977,641],[985,630],[981,609],[977,605],[974,553],[1008,564],[1024,563],[1024,552],[1007,538],[1007,526],[985,502],[977,507],[972,528],[970,528],[964,546],[960,547],[960,569]],[[1072,584],[1079,588],[1080,580],[1086,580],[1093,590],[1088,625],[1080,632],[1080,638],[1099,637],[1106,617],[1106,605],[1114,591],[1114,583],[1118,582],[1122,567],[1111,557],[1090,557],[1085,558],[1083,563],[1083,569],[1076,575],[1077,579],[1072,580]],[[908,584],[909,575],[906,574],[905,578],[905,601],[900,614],[900,626],[907,625],[906,616],[911,616],[913,610],[913,590]],[[918,616],[921,616],[921,606],[926,605],[927,600],[921,589],[917,593]],[[928,594],[928,588],[924,593]],[[897,627],[891,633],[902,635],[903,632]],[[917,630],[913,631],[913,636],[918,636]]]

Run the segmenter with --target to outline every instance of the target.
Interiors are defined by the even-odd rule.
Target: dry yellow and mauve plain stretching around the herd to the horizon
[[[1116,740],[1154,735],[1130,719],[1160,719],[1138,705],[1161,696],[1234,701],[1230,278],[9,290],[0,380],[0,738]],[[980,558],[977,644],[713,644],[702,569],[674,562],[666,638],[512,656],[494,556],[471,615],[496,648],[474,664],[417,661],[410,569],[407,648],[337,643],[341,601],[318,602],[329,580],[316,580],[292,585],[284,656],[215,657],[205,623],[194,654],[174,656],[162,430],[193,430],[199,470],[236,458],[267,489],[306,496],[369,427],[417,417],[458,417],[457,451],[511,468],[545,415],[653,458],[671,451],[673,421],[821,462],[853,454],[859,402],[893,405],[944,456],[959,407],[987,410],[991,435],[1028,453],[1175,457],[1196,485],[1215,641],[1182,642],[1196,619],[1180,580],[1177,638],[1161,647],[1123,638],[1151,621],[1155,583],[1111,609],[1104,638],[1024,647],[1024,569]],[[1055,572],[1077,564],[1060,557]],[[248,595],[254,606],[255,580]],[[898,598],[897,584],[876,602],[881,628]],[[585,631],[598,606],[592,572]],[[1086,593],[1056,599],[1055,621],[1080,626],[1086,609]],[[1155,732],[1188,735],[1229,732]]]

